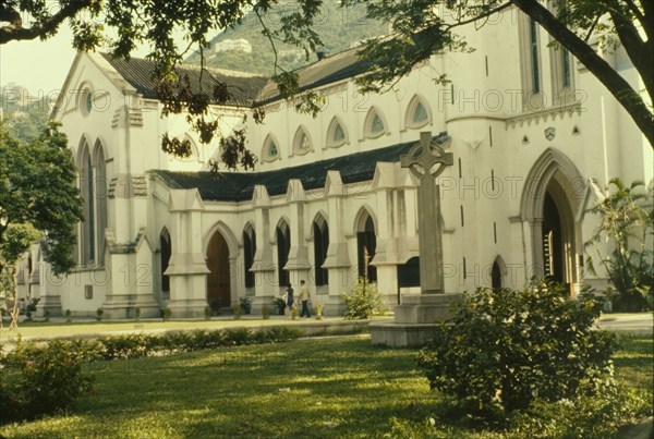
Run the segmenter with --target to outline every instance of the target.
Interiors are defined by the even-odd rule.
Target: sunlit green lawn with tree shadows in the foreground
[[[652,337],[628,337],[622,345],[618,380],[652,400]],[[415,437],[520,437],[448,426],[415,353],[350,336],[97,362],[88,366],[95,395],[69,414],[0,427],[0,437],[404,437],[398,424],[417,426]],[[429,417],[436,427],[421,436]]]

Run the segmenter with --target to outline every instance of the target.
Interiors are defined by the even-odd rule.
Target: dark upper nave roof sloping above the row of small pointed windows
[[[295,73],[299,75],[300,90],[331,84],[362,73],[368,66],[370,61],[359,59],[359,50],[361,50],[361,47],[329,56],[313,64],[298,69]],[[267,103],[276,99],[279,99],[277,84],[269,81],[259,92],[257,103]]]

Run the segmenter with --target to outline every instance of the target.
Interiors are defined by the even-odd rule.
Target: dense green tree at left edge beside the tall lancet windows
[[[29,143],[0,125],[0,273],[39,239],[52,271],[70,270],[73,229],[83,218],[75,167],[57,125]]]

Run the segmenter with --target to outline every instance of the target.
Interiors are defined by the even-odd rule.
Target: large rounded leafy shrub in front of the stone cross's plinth
[[[479,289],[437,328],[419,364],[432,389],[482,417],[594,394],[613,382],[617,347],[615,334],[592,329],[598,314],[593,295],[569,300],[554,284]]]

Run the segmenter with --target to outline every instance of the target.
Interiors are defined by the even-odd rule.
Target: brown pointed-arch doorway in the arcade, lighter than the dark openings
[[[217,231],[207,246],[207,302],[217,310],[231,306],[231,277],[229,267],[229,246],[225,236]]]

